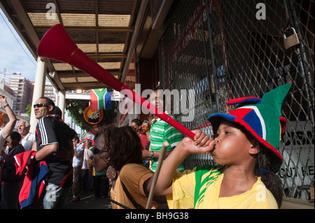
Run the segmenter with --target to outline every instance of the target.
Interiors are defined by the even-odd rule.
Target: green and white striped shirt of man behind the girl
[[[173,117],[172,115],[169,115]],[[174,118],[174,117],[173,117]],[[183,139],[183,135],[181,132],[172,125],[167,124],[167,122],[158,118],[157,120],[153,120],[152,126],[150,129],[150,150],[151,151],[161,151],[162,145],[164,141],[169,143],[167,147],[168,150],[173,150],[176,145]],[[155,171],[158,166],[158,158],[153,158],[151,160],[151,170]],[[177,171],[184,171],[183,163],[179,165]]]

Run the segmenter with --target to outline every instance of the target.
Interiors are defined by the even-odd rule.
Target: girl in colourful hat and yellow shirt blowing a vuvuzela
[[[215,138],[195,130],[163,162],[155,195],[166,195],[169,208],[279,208],[282,164],[278,152],[286,119],[281,104],[292,83],[262,99],[232,99],[229,114],[209,116]],[[198,166],[184,173],[176,167],[192,153],[210,152],[220,166]]]

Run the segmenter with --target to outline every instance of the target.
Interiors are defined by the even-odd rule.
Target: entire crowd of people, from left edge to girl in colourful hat
[[[286,120],[281,117],[281,103],[291,85],[267,92],[262,99],[246,97],[228,101],[227,108],[236,106],[228,114],[209,116],[214,138],[197,129],[193,130],[195,138],[185,137],[153,114],[148,117],[148,123],[135,119],[127,127],[102,127],[94,136],[94,146],[91,141],[79,143],[76,132],[58,115],[53,115],[55,105],[47,98],[40,98],[34,104],[38,119],[35,138],[27,132],[26,123],[19,123],[18,132],[13,131],[15,115],[1,96],[0,102],[10,120],[0,132],[3,148],[8,142],[8,152],[1,152],[2,173],[7,175],[15,166],[18,173],[24,164],[28,166],[27,176],[33,165],[39,168],[34,168],[32,173],[38,171],[41,180],[48,182],[45,189],[39,189],[41,193],[37,197],[21,201],[21,193],[27,194],[29,189],[25,187],[26,180],[21,180],[24,175],[16,174],[15,182],[2,178],[2,200],[7,208],[17,208],[20,190],[21,208],[65,208],[71,187],[71,201],[80,201],[80,190],[90,189],[93,175],[95,196],[107,196],[111,181],[109,200],[114,209],[141,209],[148,204],[150,208],[279,208],[282,192],[276,172],[283,159],[278,148],[286,127]],[[153,92],[150,101],[164,110],[160,92]],[[30,151],[21,144],[21,138],[25,137],[33,141],[24,141],[24,145],[31,145]],[[169,146],[162,157],[160,174],[156,175],[165,141]],[[183,161],[188,155],[207,152],[218,165],[184,168]],[[14,164],[13,157],[18,165]],[[153,182],[154,176],[156,182]],[[156,183],[155,192],[148,203],[153,183]],[[51,191],[55,199],[51,199]]]

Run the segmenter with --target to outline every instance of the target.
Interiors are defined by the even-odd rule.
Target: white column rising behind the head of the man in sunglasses
[[[35,77],[35,84],[34,84],[34,93],[33,93],[33,100],[31,102],[31,129],[29,131],[32,134],[35,134],[36,131],[36,125],[38,120],[35,117],[34,114],[34,108],[33,105],[37,99],[39,99],[41,96],[44,95],[44,90],[45,90],[45,75],[46,73],[46,64],[41,57],[37,58],[37,67],[36,67],[36,77]]]

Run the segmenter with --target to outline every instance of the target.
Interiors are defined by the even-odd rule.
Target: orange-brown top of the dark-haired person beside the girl
[[[128,208],[134,209],[132,202],[128,199],[121,185],[120,179],[123,179],[124,185],[128,192],[138,204],[143,208],[146,208],[148,198],[144,193],[144,182],[153,176],[153,171],[148,170],[146,167],[139,164],[126,164],[120,170],[120,174],[116,180],[115,187],[111,192],[111,199],[118,203],[127,206]],[[122,207],[111,203],[113,209],[123,209]],[[156,201],[151,202],[151,207],[158,207],[160,203]]]

